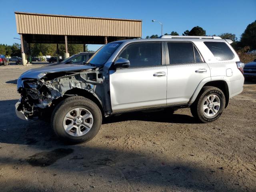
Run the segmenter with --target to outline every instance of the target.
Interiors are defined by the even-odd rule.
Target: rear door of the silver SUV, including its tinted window
[[[192,42],[166,42],[167,105],[189,102],[210,68]]]

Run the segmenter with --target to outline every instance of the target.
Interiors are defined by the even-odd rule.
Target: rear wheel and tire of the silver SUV
[[[205,86],[190,106],[190,111],[200,122],[209,123],[220,117],[225,104],[226,99],[222,90],[213,86]]]

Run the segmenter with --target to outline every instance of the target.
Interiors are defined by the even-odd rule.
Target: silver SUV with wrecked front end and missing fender
[[[111,42],[84,65],[23,73],[16,114],[24,120],[51,114],[56,135],[72,143],[92,139],[102,117],[134,110],[190,107],[200,122],[212,122],[243,90],[244,64],[230,43],[217,36]]]

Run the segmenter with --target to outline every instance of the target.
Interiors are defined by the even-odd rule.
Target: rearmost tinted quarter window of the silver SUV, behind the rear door
[[[225,42],[204,42],[219,61],[232,60],[235,55]]]

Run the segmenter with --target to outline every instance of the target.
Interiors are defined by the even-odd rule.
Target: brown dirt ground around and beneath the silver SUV
[[[0,66],[0,191],[256,191],[256,81],[215,122],[188,108],[122,114],[66,145],[46,122],[16,117],[16,79],[38,66]]]

